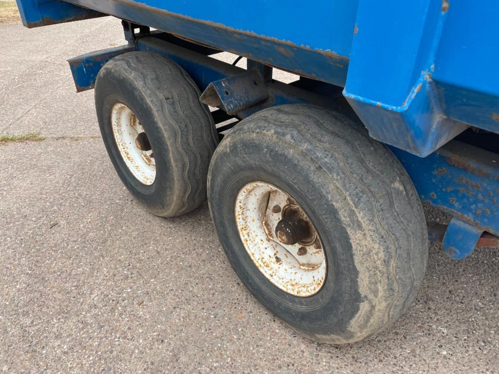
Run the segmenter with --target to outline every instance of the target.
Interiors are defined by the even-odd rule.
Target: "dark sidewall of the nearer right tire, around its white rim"
[[[358,276],[348,232],[339,220],[336,207],[329,202],[331,194],[338,195],[339,199],[344,196],[324,178],[320,166],[292,144],[275,138],[262,142],[261,137],[256,139],[250,133],[233,135],[231,149],[224,149],[226,139],[219,146],[211,167],[218,174],[209,182],[214,223],[223,227],[217,231],[232,267],[263,305],[301,334],[314,338],[327,331],[329,335],[351,338],[347,333],[348,324],[358,312],[361,297],[355,292]],[[231,163],[217,165],[227,160],[223,154],[226,157],[230,154]],[[315,295],[296,297],[281,291],[256,268],[244,248],[235,220],[235,202],[239,190],[255,181],[284,190],[314,223],[327,261],[325,282]],[[351,213],[355,221],[355,214]]]

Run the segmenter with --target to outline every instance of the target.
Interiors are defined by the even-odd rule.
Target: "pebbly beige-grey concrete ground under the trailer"
[[[297,336],[241,285],[206,205],[158,218],[119,181],[65,62],[122,43],[119,21],[0,32],[0,133],[47,137],[0,146],[0,372],[499,372],[497,249],[431,245],[415,304],[375,338]]]

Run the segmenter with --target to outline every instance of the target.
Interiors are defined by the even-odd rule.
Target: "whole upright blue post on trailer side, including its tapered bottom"
[[[360,0],[344,90],[373,138],[423,157],[468,127],[446,119],[432,81],[447,5]]]

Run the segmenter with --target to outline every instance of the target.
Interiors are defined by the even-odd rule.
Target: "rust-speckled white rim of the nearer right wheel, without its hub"
[[[313,230],[312,236],[307,237],[315,240],[284,244],[277,238],[275,227],[289,208],[301,209],[300,213]],[[295,200],[275,186],[251,182],[237,195],[235,216],[251,260],[274,286],[300,297],[320,291],[327,272],[324,247],[312,221]]]

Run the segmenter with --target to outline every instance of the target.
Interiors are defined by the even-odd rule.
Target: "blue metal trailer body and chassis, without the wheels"
[[[337,107],[345,98],[370,136],[392,148],[421,200],[453,215],[444,237],[453,258],[469,255],[484,231],[499,235],[499,147],[465,135],[470,127],[499,134],[495,0],[17,3],[27,27],[102,15],[125,20],[127,45],[69,60],[77,90],[92,88],[113,56],[149,50],[179,63],[208,100],[239,118],[286,103]],[[209,57],[217,51],[247,57],[258,75]],[[269,67],[300,81],[272,81]],[[251,79],[266,89],[244,89]],[[220,95],[226,84],[234,87],[232,102]]]

